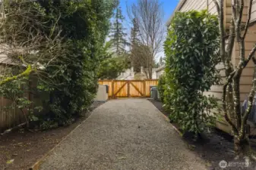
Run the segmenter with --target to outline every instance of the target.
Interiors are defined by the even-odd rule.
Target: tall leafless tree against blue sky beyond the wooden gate
[[[150,51],[144,70],[147,70],[149,79],[152,79],[154,60],[163,50],[163,10],[157,0],[138,0],[128,8],[128,15],[137,22],[141,45],[147,46]]]

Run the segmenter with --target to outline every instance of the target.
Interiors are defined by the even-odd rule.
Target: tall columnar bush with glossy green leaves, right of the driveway
[[[164,45],[166,54],[165,104],[170,118],[184,131],[201,133],[215,116],[216,99],[204,91],[219,81],[218,22],[207,11],[177,13]]]

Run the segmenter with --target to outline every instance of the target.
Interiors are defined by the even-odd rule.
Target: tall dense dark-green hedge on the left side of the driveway
[[[109,31],[113,1],[40,2],[46,16],[62,28],[67,53],[46,68],[50,85],[50,112],[44,121],[69,124],[93,102],[97,90],[97,70]],[[60,70],[61,68],[61,70]],[[41,82],[41,85],[44,84]],[[43,85],[49,89],[49,83]],[[50,126],[44,123],[45,126]]]

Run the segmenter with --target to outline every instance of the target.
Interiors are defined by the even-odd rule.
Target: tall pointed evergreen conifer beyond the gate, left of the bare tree
[[[125,33],[125,28],[122,26],[122,21],[125,20],[125,17],[122,15],[119,0],[115,1],[115,7],[114,22],[112,23],[111,34],[109,37],[115,54],[120,55],[125,52],[125,47],[128,45],[128,42],[125,39],[127,33]]]

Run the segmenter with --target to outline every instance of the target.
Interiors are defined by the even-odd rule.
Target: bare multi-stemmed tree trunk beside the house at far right
[[[223,61],[226,70],[226,83],[223,85],[223,111],[225,113],[226,121],[232,126],[234,134],[234,149],[239,157],[254,156],[251,153],[248,134],[246,134],[248,114],[251,112],[251,107],[256,91],[256,59],[254,53],[256,45],[251,49],[248,57],[245,57],[245,37],[248,32],[248,26],[251,21],[251,7],[253,0],[248,0],[247,21],[245,26],[242,26],[242,18],[244,11],[244,0],[232,1],[232,17],[229,26],[229,39],[226,43],[226,28],[224,26],[224,5],[223,0],[213,0],[219,15],[219,29],[220,29],[220,57]],[[242,32],[243,29],[243,32]],[[234,40],[236,39],[236,42]],[[232,51],[234,43],[239,45],[239,65],[232,66]],[[240,79],[242,70],[245,69],[248,62],[254,62],[254,79],[251,92],[248,97],[248,108],[242,113],[240,103]]]

